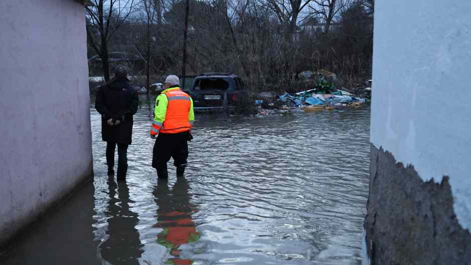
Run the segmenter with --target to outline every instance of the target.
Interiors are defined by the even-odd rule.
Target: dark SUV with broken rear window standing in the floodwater
[[[189,94],[196,111],[231,107],[249,95],[241,77],[230,73],[201,74],[193,80]]]

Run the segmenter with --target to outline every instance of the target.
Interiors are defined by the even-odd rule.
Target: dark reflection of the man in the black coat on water
[[[113,265],[129,264],[139,265],[139,258],[144,252],[143,244],[139,239],[139,232],[135,228],[138,223],[137,213],[129,209],[129,188],[126,182],[119,182],[116,185],[113,178],[108,180],[110,189],[110,200],[107,211],[108,219],[108,239],[100,245],[100,252],[103,259]],[[116,195],[118,188],[118,198]]]

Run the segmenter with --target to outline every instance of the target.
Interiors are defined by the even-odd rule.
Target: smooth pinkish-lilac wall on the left
[[[0,244],[92,175],[83,4],[0,1]]]

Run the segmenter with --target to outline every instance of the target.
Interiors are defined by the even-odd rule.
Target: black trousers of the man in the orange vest
[[[176,134],[159,133],[152,152],[152,167],[161,168],[173,157],[174,166],[186,165],[188,159],[189,132]]]

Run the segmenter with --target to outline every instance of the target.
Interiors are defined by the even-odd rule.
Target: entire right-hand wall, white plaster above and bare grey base
[[[448,204],[437,202],[448,201],[448,197],[448,206],[451,208],[449,220],[429,217],[436,225],[436,222],[449,221],[449,227],[452,227],[450,229],[462,231],[463,238],[467,239],[462,239],[461,244],[464,244],[464,249],[468,247],[467,250],[471,251],[470,237],[466,237],[471,229],[469,18],[469,1],[396,0],[375,3],[372,176],[365,222],[368,239],[366,243],[370,254],[374,250],[371,248],[375,240],[388,241],[386,238],[393,237],[394,229],[399,229],[396,230],[397,233],[408,232],[409,236],[417,232],[417,224],[420,222],[415,218],[417,216],[411,214],[421,212],[420,208],[424,205],[431,205],[431,213],[447,212],[440,207]],[[402,171],[397,171],[398,168]],[[416,182],[414,176],[420,181]],[[431,179],[433,181],[429,182]],[[389,189],[394,192],[389,197],[385,195],[384,189],[388,187],[381,187],[382,184],[378,181],[391,181]],[[440,183],[441,186],[437,188],[439,191],[431,194],[430,190],[434,190],[430,188],[433,183]],[[414,193],[408,194],[404,189],[409,186],[413,188],[413,192],[423,192],[424,196],[419,199]],[[405,196],[400,195],[403,192]],[[409,203],[413,199],[417,201]],[[379,206],[380,200],[389,203]],[[394,212],[388,207],[406,208]],[[376,215],[394,219],[392,214],[401,215],[395,225],[387,222],[375,223],[373,218]],[[454,223],[453,220],[456,220],[455,224],[451,224]],[[391,227],[395,228],[389,230]],[[441,229],[438,226],[435,228]],[[427,233],[434,231],[424,229],[417,236],[425,237]],[[438,233],[440,231],[435,231],[435,235]],[[456,236],[456,240],[458,237]],[[389,259],[394,261],[394,255],[404,250],[406,244],[393,245],[386,242],[383,247],[396,251],[393,251],[395,254],[391,254]],[[452,248],[453,245],[445,246],[442,250],[430,248],[426,254],[433,257],[441,251],[457,250]],[[385,249],[382,251],[381,255],[387,255],[384,254]],[[422,264],[422,254],[425,253],[416,253],[419,256],[414,259],[416,262],[410,260],[409,264]]]

